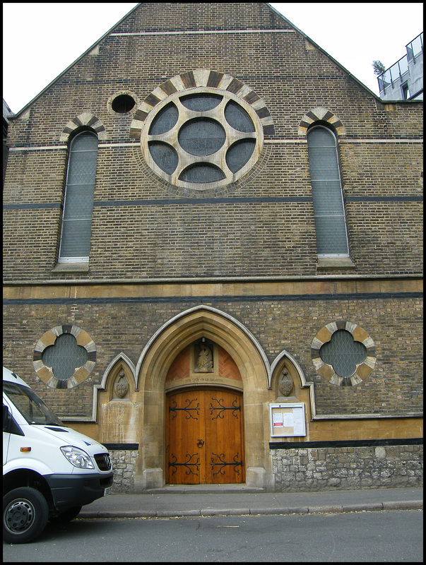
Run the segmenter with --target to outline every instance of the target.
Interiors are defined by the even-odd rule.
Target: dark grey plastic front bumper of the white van
[[[113,472],[105,475],[45,475],[57,510],[84,506],[100,499],[105,489],[111,487],[113,477]]]

